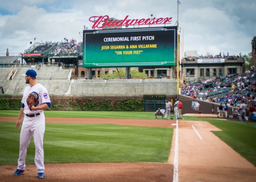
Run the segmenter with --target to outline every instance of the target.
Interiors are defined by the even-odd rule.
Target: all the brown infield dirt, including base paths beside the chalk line
[[[201,114],[200,114],[201,115]],[[202,115],[201,115],[202,116]],[[0,121],[16,122],[16,117]],[[46,118],[46,122],[109,123],[133,126],[174,127],[167,119]],[[192,128],[198,131],[198,134]],[[178,121],[178,179],[180,182],[255,182],[256,167],[222,142],[208,122]],[[15,127],[15,125],[14,125]],[[44,181],[55,182],[172,182],[174,130],[169,160],[162,163],[71,163],[45,164]],[[35,165],[26,165],[23,175],[13,176],[16,165],[0,166],[0,181],[37,181]]]

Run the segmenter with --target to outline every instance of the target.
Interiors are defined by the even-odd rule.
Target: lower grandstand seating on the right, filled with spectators
[[[256,77],[253,77],[253,75],[256,74],[256,71],[252,73],[243,73],[243,74],[232,74],[230,75],[230,79],[226,77],[220,77],[216,80],[209,79],[209,81],[204,85],[204,88],[200,88],[200,85],[205,81],[201,80],[200,83],[197,84],[192,84],[192,85],[186,85],[186,88],[181,88],[181,94],[187,95],[194,97],[193,95],[195,94],[195,97],[197,99],[202,99],[202,100],[207,100],[207,101],[213,101],[215,97],[218,97],[222,101],[219,102],[227,102],[227,101],[232,101],[234,105],[239,104],[239,100],[243,100],[246,102],[247,106],[250,106],[251,102],[256,102],[256,99],[253,100],[254,96],[256,94]],[[250,78],[244,77],[250,75]],[[241,78],[240,78],[241,77]],[[238,87],[238,81],[243,82],[244,86],[243,87]],[[247,80],[247,81],[246,81]],[[210,82],[211,81],[211,82]],[[218,82],[217,82],[218,81]],[[202,82],[202,83],[201,83]],[[216,86],[219,86],[220,88],[216,88]],[[233,90],[232,85],[235,85],[238,88],[235,88]],[[254,86],[254,90],[251,91],[250,97],[247,97],[247,92],[250,91],[249,85]],[[225,88],[225,92],[223,92],[223,87]],[[211,91],[207,91],[208,88],[211,88]],[[216,88],[216,89],[215,89]],[[240,94],[241,93],[241,97]],[[208,98],[207,98],[208,97]],[[253,98],[252,98],[253,97]],[[218,100],[213,101],[213,102],[218,102]]]

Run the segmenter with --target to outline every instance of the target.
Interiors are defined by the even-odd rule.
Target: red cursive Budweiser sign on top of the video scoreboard
[[[153,16],[151,14],[151,16]],[[123,20],[109,20],[108,15],[100,16],[100,17],[90,17],[90,22],[93,22],[94,28],[103,28],[105,26],[133,26],[133,25],[153,25],[153,24],[165,24],[172,21],[172,17],[170,18],[148,18],[148,19],[133,19],[128,20],[128,15]]]

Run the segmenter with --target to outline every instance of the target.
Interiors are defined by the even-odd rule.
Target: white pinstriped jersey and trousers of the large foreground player
[[[38,173],[44,173],[44,148],[43,148],[43,139],[44,139],[44,130],[45,130],[45,117],[43,110],[31,111],[26,103],[26,99],[29,94],[34,94],[38,97],[38,105],[40,106],[42,103],[51,102],[47,89],[37,83],[36,85],[30,87],[27,86],[23,92],[23,98],[21,102],[24,104],[24,119],[23,124],[20,131],[20,156],[18,159],[18,167],[17,169],[24,170],[25,169],[25,161],[26,161],[26,151],[29,146],[29,142],[31,137],[34,137],[35,143],[35,165]],[[28,117],[27,115],[38,114],[40,115],[35,117]]]

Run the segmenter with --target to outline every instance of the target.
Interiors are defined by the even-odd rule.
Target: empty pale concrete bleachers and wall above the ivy
[[[20,65],[22,66],[22,65]],[[44,85],[49,94],[168,94],[177,93],[176,79],[132,79],[132,80],[71,80],[71,69],[59,67],[17,67],[11,80],[6,80],[3,85],[5,94],[23,94],[27,86],[21,75],[28,69],[34,69],[38,73],[38,83]],[[1,78],[8,77],[10,68],[2,68]],[[2,85],[1,85],[2,86]]]

